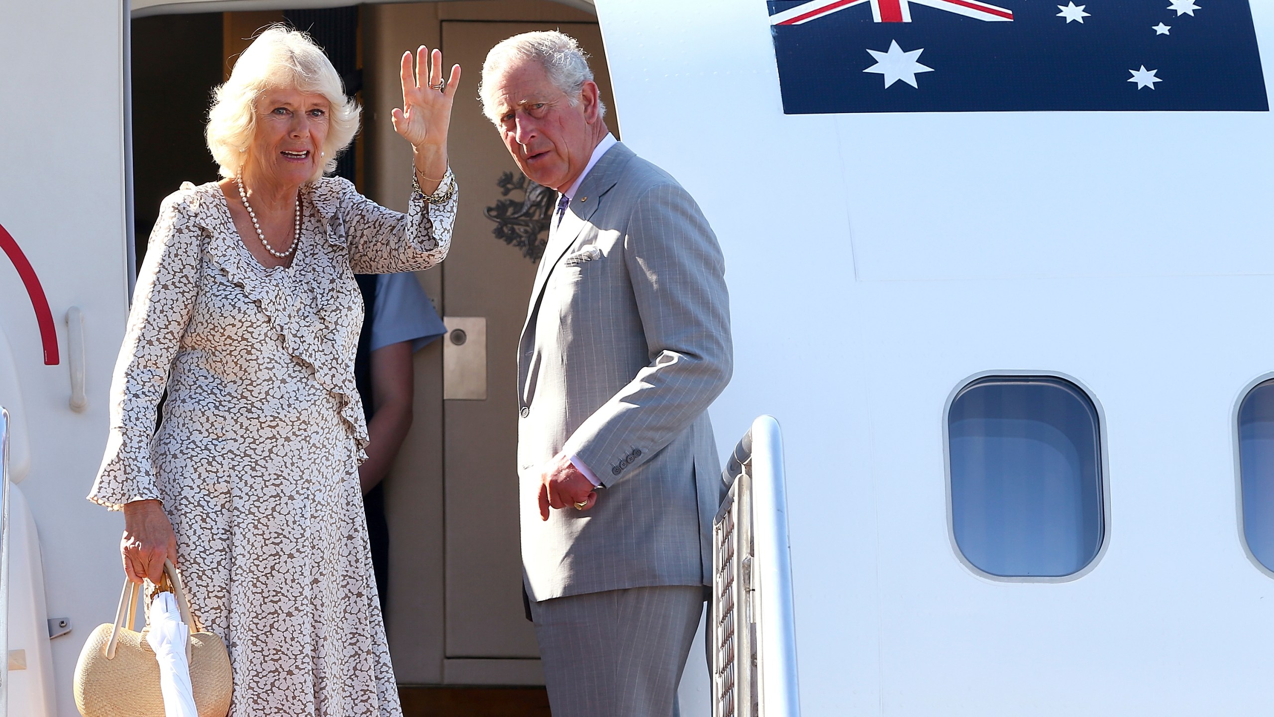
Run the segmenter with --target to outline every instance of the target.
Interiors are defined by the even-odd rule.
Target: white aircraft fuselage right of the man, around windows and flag
[[[1252,11],[1270,78],[1274,3]],[[1274,117],[785,116],[766,13],[599,3],[624,142],[726,253],[721,450],[785,429],[803,711],[1265,712],[1274,580],[1238,541],[1232,411],[1274,360]],[[1080,579],[952,550],[943,406],[990,370],[1105,408],[1110,547]]]

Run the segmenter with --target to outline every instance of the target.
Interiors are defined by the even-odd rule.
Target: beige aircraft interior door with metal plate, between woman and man
[[[594,15],[544,0],[371,5],[362,27],[367,194],[386,207],[406,208],[412,172],[389,121],[401,102],[401,52],[441,46],[447,66],[465,70],[448,139],[461,195],[455,236],[447,260],[418,274],[451,333],[417,352],[414,422],[385,485],[394,671],[400,685],[474,693],[543,685],[522,607],[515,356],[538,268],[519,240],[547,241],[557,193],[525,184],[482,114],[478,84],[497,42],[561,28],[592,54],[615,130],[601,32]],[[440,694],[408,689],[404,699]],[[543,690],[525,698],[522,707],[547,708]]]

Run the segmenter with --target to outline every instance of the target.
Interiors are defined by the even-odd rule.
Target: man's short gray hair
[[[482,65],[478,96],[482,98],[483,114],[492,122],[499,124],[499,117],[494,116],[496,102],[488,94],[488,83],[503,70],[526,60],[535,60],[544,66],[549,82],[571,98],[572,107],[580,103],[583,83],[592,82],[589,54],[569,34],[555,29],[515,34],[492,47]],[[598,116],[606,116],[606,105],[601,100],[598,100]]]

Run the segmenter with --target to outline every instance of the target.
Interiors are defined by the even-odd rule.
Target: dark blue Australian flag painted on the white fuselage
[[[1247,0],[768,0],[784,111],[1269,111]]]

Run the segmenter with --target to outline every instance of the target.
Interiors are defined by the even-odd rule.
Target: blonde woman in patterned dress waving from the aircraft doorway
[[[150,235],[89,499],[124,510],[130,579],[158,579],[166,558],[182,572],[229,649],[236,717],[401,714],[358,485],[354,273],[447,254],[460,68],[441,68],[438,51],[403,56],[404,216],[324,177],[359,108],[308,37],[265,31],[209,114],[225,179],[183,184]]]

